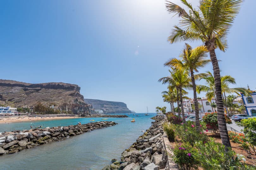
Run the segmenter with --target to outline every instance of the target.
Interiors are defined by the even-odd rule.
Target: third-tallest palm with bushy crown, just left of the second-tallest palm
[[[159,79],[159,82],[162,82],[163,84],[169,83],[171,87],[176,87],[177,90],[179,90],[179,97],[180,97],[180,105],[181,105],[181,114],[182,114],[182,121],[183,123],[186,123],[185,119],[185,113],[184,113],[184,107],[183,107],[183,99],[182,99],[182,88],[191,88],[191,80],[188,75],[188,71],[186,69],[172,69],[173,71],[170,71],[170,76],[163,77]],[[177,91],[178,95],[178,91]],[[177,102],[178,104],[179,102]],[[179,105],[178,105],[179,107]]]

